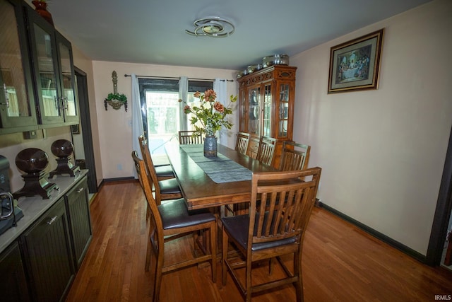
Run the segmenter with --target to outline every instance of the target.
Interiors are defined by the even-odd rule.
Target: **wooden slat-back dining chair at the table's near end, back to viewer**
[[[221,219],[223,285],[229,271],[247,302],[251,301],[251,294],[284,284],[294,284],[297,301],[303,301],[302,243],[320,175],[319,167],[253,174],[249,214]],[[258,207],[259,202],[268,203],[270,207]],[[239,255],[228,253],[230,241]],[[292,269],[283,262],[283,255],[292,255]],[[268,260],[272,272],[272,258],[278,260],[285,277],[273,277],[265,283],[252,280],[252,264]],[[240,271],[243,268],[245,272]]]

